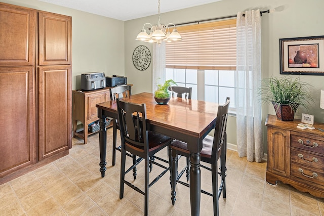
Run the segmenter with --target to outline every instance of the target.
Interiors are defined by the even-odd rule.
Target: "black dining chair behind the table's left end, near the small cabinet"
[[[117,98],[128,98],[132,95],[131,85],[120,85],[110,89],[110,100]],[[116,164],[116,150],[120,151],[121,146],[116,146],[117,143],[117,129],[119,129],[118,119],[113,119],[113,132],[112,132],[112,165]],[[129,155],[131,156],[131,155]]]

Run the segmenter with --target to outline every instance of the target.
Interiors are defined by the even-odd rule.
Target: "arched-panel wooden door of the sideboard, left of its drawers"
[[[290,132],[268,126],[267,170],[290,177]]]

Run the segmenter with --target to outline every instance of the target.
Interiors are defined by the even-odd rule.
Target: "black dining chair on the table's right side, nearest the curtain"
[[[211,164],[211,168],[201,165],[200,167],[206,168],[212,171],[212,187],[213,193],[201,190],[201,193],[210,195],[213,197],[214,203],[214,215],[219,215],[219,204],[218,199],[223,193],[223,198],[226,198],[226,184],[225,184],[225,171],[226,171],[226,123],[229,109],[229,98],[226,99],[224,105],[219,105],[217,110],[217,118],[215,124],[214,137],[207,135],[203,140],[203,148],[200,151],[200,160]],[[176,184],[180,183],[184,186],[190,187],[186,182],[180,181],[182,172],[177,174],[178,169],[178,155],[190,156],[190,152],[187,148],[187,143],[179,140],[175,140],[171,143],[171,155],[172,155],[172,174],[171,174],[171,200],[172,204],[176,201]],[[217,171],[217,161],[220,158],[220,172]],[[189,166],[186,167],[189,169]],[[221,183],[218,188],[218,175],[221,176]],[[187,180],[188,181],[188,180]]]

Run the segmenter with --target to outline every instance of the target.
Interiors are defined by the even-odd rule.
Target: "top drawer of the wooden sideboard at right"
[[[324,154],[324,141],[311,139],[308,137],[302,137],[298,135],[291,135],[290,146],[307,151],[316,152],[318,154]]]

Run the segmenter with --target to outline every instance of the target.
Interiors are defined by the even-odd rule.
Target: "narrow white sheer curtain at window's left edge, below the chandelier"
[[[152,72],[152,93],[156,90],[156,85],[164,83],[166,80],[166,44],[162,42],[159,46],[153,44],[152,51],[153,72]]]

